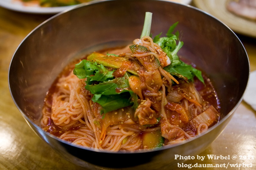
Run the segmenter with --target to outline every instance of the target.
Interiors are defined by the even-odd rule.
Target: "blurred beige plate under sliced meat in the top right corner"
[[[236,33],[256,38],[256,21],[227,9],[227,0],[194,0],[195,6],[218,18]],[[242,8],[240,8],[242,9]]]

